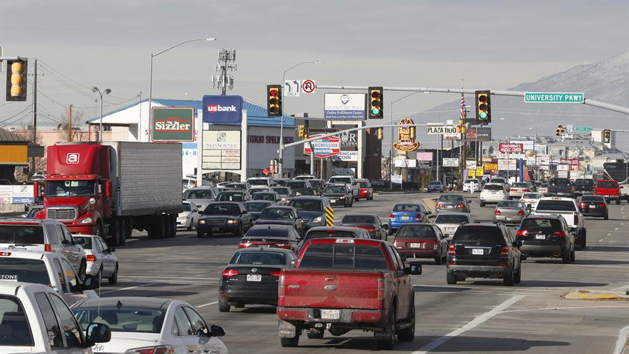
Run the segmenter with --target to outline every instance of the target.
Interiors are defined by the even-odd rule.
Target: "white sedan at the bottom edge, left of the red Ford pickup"
[[[156,297],[101,297],[73,305],[83,330],[105,323],[111,340],[94,353],[217,353],[227,354],[219,338],[225,330],[207,325],[187,302]]]

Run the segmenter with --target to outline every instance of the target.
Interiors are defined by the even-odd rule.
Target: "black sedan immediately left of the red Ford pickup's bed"
[[[287,249],[239,249],[223,270],[219,285],[219,311],[245,304],[277,305],[277,285],[284,268],[295,263]]]

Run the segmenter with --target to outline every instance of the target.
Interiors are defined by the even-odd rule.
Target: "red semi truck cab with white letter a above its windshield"
[[[44,209],[36,217],[62,221],[71,233],[103,235],[103,220],[111,216],[115,175],[110,154],[108,145],[48,147]]]

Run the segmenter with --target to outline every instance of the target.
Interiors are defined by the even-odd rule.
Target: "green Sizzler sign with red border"
[[[153,107],[151,112],[151,141],[194,141],[194,108]]]

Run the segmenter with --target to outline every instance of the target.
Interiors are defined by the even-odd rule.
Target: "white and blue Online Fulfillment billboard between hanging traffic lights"
[[[364,120],[367,118],[367,94],[325,94],[324,118],[329,120]]]

